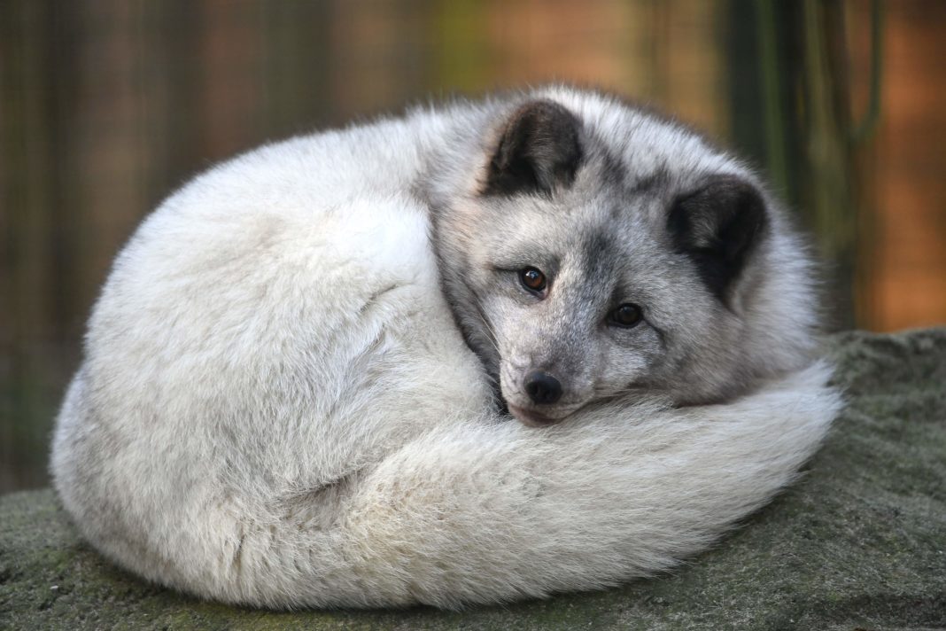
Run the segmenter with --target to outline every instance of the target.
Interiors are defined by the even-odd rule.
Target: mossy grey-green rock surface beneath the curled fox
[[[946,329],[828,352],[849,406],[804,479],[671,574],[461,613],[239,609],[115,569],[44,490],[0,498],[0,629],[946,628]]]

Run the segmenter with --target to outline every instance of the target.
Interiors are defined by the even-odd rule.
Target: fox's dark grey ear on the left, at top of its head
[[[487,167],[486,195],[551,193],[575,178],[581,123],[558,103],[530,101],[506,123]]]

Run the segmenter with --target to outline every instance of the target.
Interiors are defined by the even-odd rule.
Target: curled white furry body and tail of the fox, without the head
[[[705,548],[814,452],[823,364],[727,405],[490,412],[404,191],[447,135],[417,118],[217,167],[116,259],[52,458],[116,563],[271,607],[604,587]]]

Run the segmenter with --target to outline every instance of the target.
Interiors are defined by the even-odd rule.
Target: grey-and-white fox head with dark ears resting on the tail
[[[483,146],[433,238],[465,339],[519,420],[622,395],[719,401],[808,358],[804,247],[695,132],[552,89],[502,108]]]

